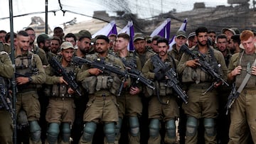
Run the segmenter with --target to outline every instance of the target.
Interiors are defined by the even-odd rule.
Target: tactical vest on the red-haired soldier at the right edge
[[[255,61],[256,54],[252,55],[245,55],[245,52],[240,53],[240,59],[238,65],[242,67],[241,74],[238,74],[235,77],[235,85],[239,87],[242,84],[242,80],[245,79],[247,72],[251,71],[252,63]],[[251,75],[250,79],[248,80],[245,88],[253,88],[256,86],[256,77],[255,75]]]

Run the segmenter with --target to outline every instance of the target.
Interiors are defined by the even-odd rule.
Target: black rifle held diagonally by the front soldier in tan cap
[[[58,60],[56,60],[55,57],[52,57],[49,63],[50,63],[50,66],[53,67],[53,70],[55,70],[57,74],[60,74],[63,76],[63,79],[65,80],[65,82],[68,83],[68,86],[71,89],[73,89],[79,96],[82,96],[82,94],[79,92],[79,86],[75,82],[75,74],[73,72],[66,72],[65,69],[60,65]]]

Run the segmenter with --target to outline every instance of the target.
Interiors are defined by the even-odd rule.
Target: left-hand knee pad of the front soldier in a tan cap
[[[48,143],[55,143],[58,140],[58,134],[60,133],[58,123],[50,123],[47,131],[47,141]]]

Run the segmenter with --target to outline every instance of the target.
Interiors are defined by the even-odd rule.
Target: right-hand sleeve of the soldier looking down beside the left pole
[[[38,55],[33,54],[33,62],[35,62],[36,68],[38,69],[38,74],[31,77],[32,84],[43,84],[46,82],[46,72],[43,69],[41,59]]]

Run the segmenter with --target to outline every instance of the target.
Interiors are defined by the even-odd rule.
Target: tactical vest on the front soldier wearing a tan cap
[[[70,64],[68,67],[64,68],[66,72],[73,72],[73,74],[76,76],[74,70],[75,70],[75,65]],[[61,76],[61,75],[57,75]],[[53,84],[51,94],[50,96],[53,97],[73,97],[73,94],[68,94],[68,85],[67,84]]]

